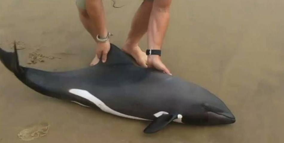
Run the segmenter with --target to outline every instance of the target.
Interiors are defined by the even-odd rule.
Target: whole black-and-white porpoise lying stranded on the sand
[[[144,133],[155,133],[170,122],[219,125],[235,122],[227,106],[210,91],[178,77],[135,65],[111,44],[106,63],[50,72],[19,65],[14,52],[0,48],[1,62],[26,86],[46,96],[121,117],[152,121]]]

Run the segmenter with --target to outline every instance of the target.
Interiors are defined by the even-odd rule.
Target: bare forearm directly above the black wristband
[[[148,27],[148,49],[161,49],[170,20],[170,3],[171,0],[154,1]]]

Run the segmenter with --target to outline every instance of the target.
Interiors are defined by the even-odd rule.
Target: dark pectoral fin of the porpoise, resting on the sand
[[[166,127],[170,122],[172,122],[174,119],[177,119],[178,115],[172,115],[172,114],[163,114],[153,120],[153,122],[148,125],[144,129],[144,133],[155,133],[158,132],[159,130],[163,129]]]

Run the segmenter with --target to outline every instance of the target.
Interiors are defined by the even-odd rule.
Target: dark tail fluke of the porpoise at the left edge
[[[19,65],[16,41],[14,42],[14,52],[6,52],[0,48],[0,60],[17,77],[23,75],[24,69]]]

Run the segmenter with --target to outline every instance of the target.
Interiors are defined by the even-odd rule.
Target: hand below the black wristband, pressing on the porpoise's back
[[[159,55],[149,55],[147,64],[149,68],[153,67],[155,69],[163,71],[166,74],[172,75],[169,69],[167,69],[167,67],[162,62],[161,57]]]

